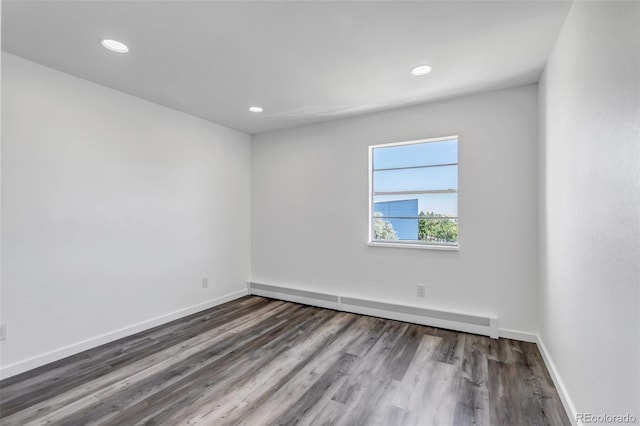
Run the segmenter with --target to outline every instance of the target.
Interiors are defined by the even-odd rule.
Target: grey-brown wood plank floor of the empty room
[[[536,346],[248,296],[0,382],[2,425],[570,425]]]

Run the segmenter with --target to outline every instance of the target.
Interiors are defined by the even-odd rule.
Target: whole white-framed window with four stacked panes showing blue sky
[[[458,137],[369,147],[369,243],[458,247]]]

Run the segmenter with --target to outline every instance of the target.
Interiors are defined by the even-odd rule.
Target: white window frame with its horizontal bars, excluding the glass
[[[458,149],[460,149],[460,138],[458,135],[451,136],[442,136],[437,138],[428,138],[428,139],[417,139],[413,141],[403,141],[403,142],[393,142],[386,144],[377,144],[377,145],[369,145],[369,216],[367,218],[367,224],[369,225],[369,238],[367,240],[367,245],[370,247],[396,247],[396,248],[411,248],[411,249],[428,249],[428,250],[460,250],[460,210],[458,209],[458,216],[456,219],[458,221],[458,242],[456,245],[438,245],[438,244],[430,244],[427,242],[420,241],[401,241],[398,240],[392,241],[376,241],[373,239],[373,198],[374,195],[401,195],[403,193],[406,194],[451,194],[455,193],[458,201],[460,199],[460,183],[458,182],[458,188],[456,189],[438,189],[438,190],[428,190],[428,191],[397,191],[397,192],[385,192],[385,193],[374,193],[373,192],[373,150],[376,148],[388,148],[392,146],[402,146],[402,145],[417,145],[421,143],[431,143],[431,142],[442,142],[446,140],[456,139],[458,141]],[[443,163],[438,164],[437,166],[446,166],[446,165],[457,165],[457,172],[460,172],[460,155],[458,152],[458,162],[457,163]],[[413,167],[407,167],[413,168]],[[400,168],[398,168],[400,169]]]

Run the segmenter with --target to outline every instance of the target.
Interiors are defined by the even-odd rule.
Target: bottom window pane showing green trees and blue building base
[[[434,217],[398,219],[374,215],[373,239],[455,246],[458,243],[458,220]]]

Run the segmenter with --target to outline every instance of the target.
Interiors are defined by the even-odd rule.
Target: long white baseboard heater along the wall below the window
[[[356,314],[371,315],[432,327],[498,338],[498,319],[458,312],[439,311],[417,306],[398,305],[375,300],[358,299],[338,294],[319,293],[290,287],[249,282],[249,293],[289,302],[319,306]]]

